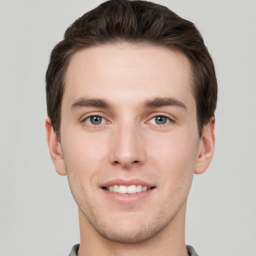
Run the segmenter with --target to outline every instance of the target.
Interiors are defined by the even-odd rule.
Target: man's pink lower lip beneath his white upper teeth
[[[155,190],[155,188],[151,188],[146,191],[142,191],[139,193],[133,193],[133,194],[121,194],[121,193],[116,193],[112,192],[106,189],[101,188],[101,190],[104,192],[104,194],[114,202],[120,203],[120,204],[134,204],[142,199],[148,197],[152,192]]]

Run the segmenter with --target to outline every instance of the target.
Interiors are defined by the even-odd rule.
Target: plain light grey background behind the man
[[[77,207],[48,153],[44,74],[67,26],[101,0],[0,0],[0,255],[68,255]],[[256,1],[156,0],[199,27],[215,62],[216,147],[195,175],[186,243],[256,255]]]

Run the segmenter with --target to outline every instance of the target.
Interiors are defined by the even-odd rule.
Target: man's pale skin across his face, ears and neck
[[[187,255],[186,198],[215,139],[213,117],[198,135],[191,83],[185,55],[157,46],[94,46],[71,57],[60,142],[49,118],[45,126],[78,205],[79,256]]]

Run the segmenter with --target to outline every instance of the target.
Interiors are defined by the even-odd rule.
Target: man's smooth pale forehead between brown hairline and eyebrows
[[[193,100],[187,57],[159,46],[117,44],[78,50],[65,74],[63,101],[80,97],[137,102],[171,96]],[[186,93],[184,93],[186,92]]]

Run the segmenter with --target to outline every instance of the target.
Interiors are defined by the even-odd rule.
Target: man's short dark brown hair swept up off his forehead
[[[189,59],[199,136],[214,116],[217,80],[211,56],[195,25],[165,6],[140,0],[109,0],[76,19],[53,48],[46,71],[47,113],[60,139],[64,75],[78,49],[119,42],[158,45],[182,51]]]

